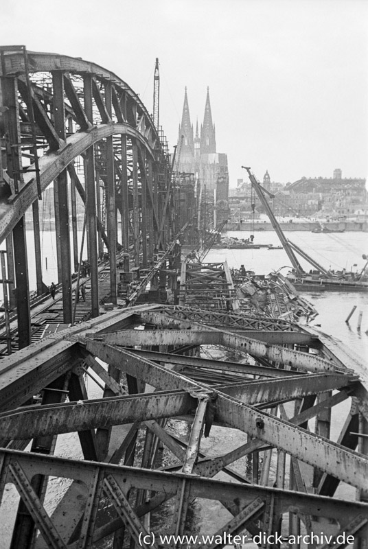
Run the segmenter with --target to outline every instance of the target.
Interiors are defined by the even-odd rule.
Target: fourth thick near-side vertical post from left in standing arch
[[[112,115],[112,95],[111,82],[105,85],[105,103],[106,111]],[[108,237],[108,257],[110,260],[110,297],[111,303],[117,303],[117,285],[116,285],[116,211],[115,211],[115,174],[114,174],[114,151],[113,136],[106,137],[106,208],[107,208],[107,237]]]

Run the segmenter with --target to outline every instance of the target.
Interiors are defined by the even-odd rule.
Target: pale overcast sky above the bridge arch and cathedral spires
[[[82,57],[117,73],[170,152],[185,86],[192,123],[207,86],[231,187],[259,178],[367,177],[367,0],[1,0],[1,45]]]

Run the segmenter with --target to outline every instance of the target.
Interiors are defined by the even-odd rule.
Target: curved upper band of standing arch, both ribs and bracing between
[[[24,74],[26,71],[25,58],[23,54],[19,52],[12,52],[12,47],[9,47],[6,55],[3,56],[4,65],[0,67],[1,75],[8,75],[14,77],[19,82],[19,88],[21,91],[21,97],[19,100],[25,101],[25,79]],[[44,108],[43,103],[40,101],[42,94],[48,95],[50,106],[52,106],[52,93],[49,93],[49,89],[46,89],[45,83],[41,88],[32,82],[32,101],[36,110],[38,110],[38,117],[41,125],[38,130],[41,129],[43,138],[49,143],[49,153],[45,156],[38,157],[38,164],[40,168],[40,180],[41,191],[44,191],[49,183],[54,180],[62,170],[67,167],[76,156],[82,154],[91,145],[98,141],[111,137],[113,135],[126,135],[132,137],[141,143],[149,156],[153,160],[162,158],[165,159],[166,152],[161,143],[157,130],[154,128],[154,124],[146,107],[139,99],[137,93],[135,93],[124,80],[120,79],[115,73],[95,65],[94,63],[84,61],[79,58],[71,58],[69,56],[61,56],[58,54],[45,54],[28,52],[27,53],[28,70],[32,75],[33,80],[37,78],[37,73],[43,74],[49,73],[48,79],[53,78],[56,72],[61,72],[67,81],[69,81],[69,94],[65,96],[65,109],[68,110],[69,117],[74,119],[77,124],[77,130],[73,135],[69,135],[65,141],[58,139],[56,129],[54,128],[54,120],[52,116],[47,112],[47,108]],[[94,87],[93,97],[95,98],[95,114],[97,113],[97,119],[95,120],[95,126],[92,126],[91,121],[88,120],[86,113],[84,113],[83,102],[80,102],[78,98],[77,89],[73,89],[73,82],[71,82],[71,76],[82,77],[86,75],[91,76]],[[112,86],[113,89],[113,113],[108,114],[106,106],[104,105],[103,93],[101,91],[104,86]],[[100,87],[99,87],[100,86]],[[41,93],[41,96],[40,96]],[[66,94],[68,95],[68,94]],[[38,96],[38,97],[37,97]],[[51,102],[51,103],[50,103]],[[74,112],[73,112],[74,106]],[[100,112],[98,112],[100,111]],[[81,116],[82,127],[78,131],[78,125]],[[85,124],[84,124],[85,122]],[[86,129],[87,126],[91,128]],[[50,142],[50,136],[53,136],[54,142]],[[51,139],[52,141],[52,139]],[[58,150],[52,150],[52,145],[58,143]],[[167,159],[166,159],[167,160]],[[28,166],[32,169],[33,165]],[[19,181],[19,192],[10,197],[8,203],[1,205],[1,218],[0,218],[0,242],[14,229],[16,223],[24,215],[25,211],[31,207],[32,202],[36,200],[38,192],[36,189],[36,181],[34,179],[34,172],[27,172],[27,167],[23,166],[23,182]]]

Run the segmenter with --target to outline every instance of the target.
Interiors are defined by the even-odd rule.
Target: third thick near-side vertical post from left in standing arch
[[[92,110],[92,78],[86,74],[84,82],[84,110],[87,118],[93,124]],[[97,219],[96,219],[96,196],[95,196],[95,159],[93,147],[86,151],[84,163],[84,180],[87,200],[87,242],[88,257],[91,265],[91,315],[95,318],[99,315],[98,300],[98,270],[97,270]]]

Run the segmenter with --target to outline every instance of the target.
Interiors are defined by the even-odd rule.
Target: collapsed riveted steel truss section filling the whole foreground
[[[357,375],[354,358],[330,343],[282,320],[152,304],[106,312],[3,358],[0,512],[11,487],[19,501],[9,546],[93,547],[130,537],[158,547],[150,515],[169,504],[165,533],[189,534],[188,510],[203,498],[224,509],[219,533],[319,535],[328,522],[332,536],[351,533],[363,547],[367,373],[360,365]],[[209,346],[242,360],[203,358],[199,349]],[[86,374],[101,397],[88,395]],[[350,406],[335,442],[331,413],[342,401]],[[186,440],[176,421],[187,422]],[[237,430],[237,442],[208,456],[203,440],[218,429]],[[58,436],[71,432],[78,459],[55,452]],[[60,480],[60,497],[48,514],[50,477]],[[343,484],[356,500],[334,498]]]

